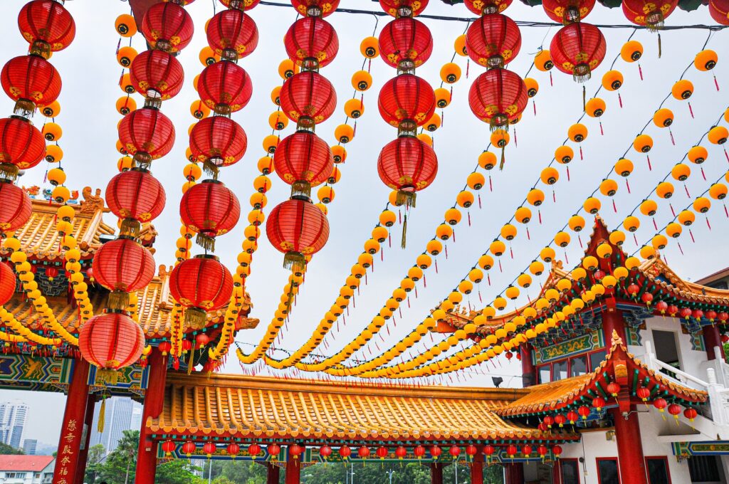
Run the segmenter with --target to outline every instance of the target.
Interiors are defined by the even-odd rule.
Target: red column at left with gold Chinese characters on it
[[[58,440],[53,484],[72,484],[76,472],[84,464],[79,459],[83,425],[86,418],[86,401],[89,396],[89,364],[85,359],[74,362],[69,395],[66,397],[66,410],[61,424],[61,439]]]

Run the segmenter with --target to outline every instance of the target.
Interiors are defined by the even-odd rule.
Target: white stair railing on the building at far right
[[[653,352],[652,343],[645,342],[644,362],[646,366],[655,372],[666,370],[669,375],[663,373],[663,378],[674,380],[684,386],[691,386],[694,389],[706,391],[709,394],[709,409],[712,413],[711,418],[718,428],[715,434],[721,434],[722,438],[729,435],[729,365],[726,364],[721,356],[720,348],[714,348],[717,358],[707,362],[706,381],[689,375],[687,372],[672,367],[666,362],[660,361]],[[676,375],[675,377],[671,376]]]

